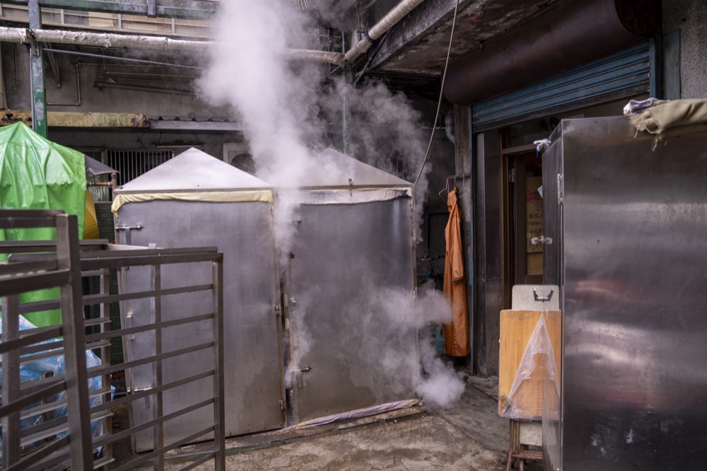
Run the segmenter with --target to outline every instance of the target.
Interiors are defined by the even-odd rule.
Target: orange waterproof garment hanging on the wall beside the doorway
[[[452,322],[444,324],[445,354],[469,354],[469,314],[467,309],[467,281],[464,278],[464,250],[462,248],[461,215],[456,188],[447,198],[449,221],[445,228],[447,250],[444,265],[443,293],[452,303]]]

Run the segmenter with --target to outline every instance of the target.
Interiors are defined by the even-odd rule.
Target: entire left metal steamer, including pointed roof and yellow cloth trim
[[[234,168],[197,149],[189,149],[116,190],[117,240],[158,248],[216,247],[223,252],[223,315],[226,436],[276,429],[285,424],[284,360],[281,342],[279,268],[273,222],[273,193],[262,180]],[[183,286],[197,267],[170,265],[157,274],[141,267],[124,272],[123,292],[170,289]],[[210,269],[210,267],[201,267]],[[163,296],[163,320],[170,313],[189,308],[208,312],[207,293],[194,291]],[[127,301],[122,306],[124,325],[154,322],[156,306],[149,299]],[[204,321],[208,322],[208,321]],[[127,337],[126,361],[139,361],[156,352],[186,349],[209,342],[209,327],[168,327],[162,335],[141,332]],[[192,357],[194,358],[194,357]],[[214,367],[209,354],[196,360],[180,357],[165,364],[162,383],[172,383]],[[153,368],[133,368],[127,378],[132,390],[155,388]],[[213,385],[192,383],[164,392],[164,414],[199,404]],[[132,424],[153,417],[153,404],[146,400],[130,411]],[[188,436],[201,422],[213,420],[210,405],[175,417],[165,424],[165,439]],[[137,434],[136,451],[153,448],[151,429]]]

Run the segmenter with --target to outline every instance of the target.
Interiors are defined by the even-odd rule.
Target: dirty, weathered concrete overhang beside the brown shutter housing
[[[484,43],[531,21],[559,0],[460,0],[450,59],[462,57]],[[390,3],[380,0],[378,3]],[[395,6],[397,2],[393,2]],[[455,0],[425,0],[371,48],[369,74],[438,78],[445,63]],[[382,18],[384,12],[378,12]],[[366,18],[375,24],[380,18]]]

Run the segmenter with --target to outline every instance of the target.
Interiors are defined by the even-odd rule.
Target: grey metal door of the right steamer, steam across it
[[[300,207],[286,296],[294,421],[414,397],[411,201]]]

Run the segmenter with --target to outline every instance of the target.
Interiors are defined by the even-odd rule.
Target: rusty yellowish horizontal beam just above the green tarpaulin
[[[18,121],[32,123],[32,113],[28,110],[1,110],[0,125],[15,124]],[[142,113],[81,113],[50,111],[47,125],[52,127],[88,128],[147,128],[150,120]]]

